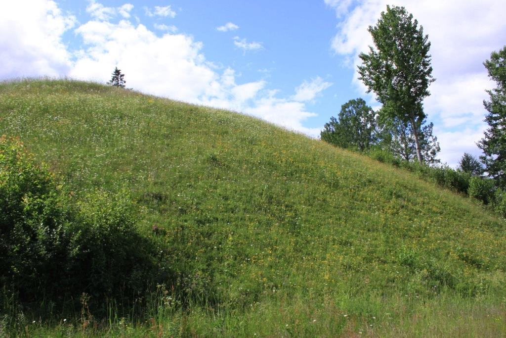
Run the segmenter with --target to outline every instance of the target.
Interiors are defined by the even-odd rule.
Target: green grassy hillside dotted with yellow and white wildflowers
[[[175,276],[159,290],[176,302],[156,316],[82,329],[55,314],[27,318],[26,334],[506,335],[504,220],[406,171],[234,112],[74,81],[0,84],[0,134],[77,195],[129,189]]]

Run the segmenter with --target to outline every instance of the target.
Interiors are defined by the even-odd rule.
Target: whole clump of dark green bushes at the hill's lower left
[[[0,137],[0,288],[21,301],[142,291],[152,248],[126,193],[72,200],[18,139]]]

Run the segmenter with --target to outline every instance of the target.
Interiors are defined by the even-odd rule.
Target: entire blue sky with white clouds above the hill
[[[349,99],[378,107],[356,65],[387,4],[405,6],[429,34],[437,81],[425,109],[441,160],[479,155],[482,101],[494,87],[482,63],[506,44],[506,4],[492,0],[2,2],[0,79],[106,82],[117,65],[127,87],[315,137]]]

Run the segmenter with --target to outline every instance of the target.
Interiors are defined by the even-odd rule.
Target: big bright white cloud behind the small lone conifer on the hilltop
[[[201,44],[189,36],[156,36],[144,25],[90,21],[76,29],[86,44],[70,75],[108,80],[118,65],[128,87],[161,96],[196,101],[206,95],[217,75],[199,53]],[[163,69],[163,71],[161,71]]]

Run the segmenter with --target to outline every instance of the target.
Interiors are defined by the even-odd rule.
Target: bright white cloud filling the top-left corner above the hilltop
[[[0,79],[62,76],[71,67],[62,34],[76,22],[54,1],[0,5]]]

